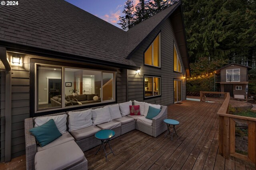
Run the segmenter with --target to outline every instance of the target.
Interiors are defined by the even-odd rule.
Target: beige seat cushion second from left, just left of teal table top
[[[101,129],[92,125],[90,127],[86,127],[86,128],[81,128],[78,130],[73,130],[70,133],[72,134],[72,136],[74,136],[74,138],[79,141],[85,138],[88,138],[90,136],[94,136],[94,134],[98,131],[100,131]]]

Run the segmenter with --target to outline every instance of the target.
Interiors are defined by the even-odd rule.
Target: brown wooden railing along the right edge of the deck
[[[204,92],[200,91],[200,101],[204,101],[204,94],[223,94],[221,92]],[[218,110],[219,116],[219,154],[224,158],[230,159],[230,156],[252,162],[256,167],[256,118],[244,117],[229,114],[230,94],[224,94],[224,101]],[[248,155],[236,153],[235,150],[235,130],[236,122],[244,122],[248,124]]]

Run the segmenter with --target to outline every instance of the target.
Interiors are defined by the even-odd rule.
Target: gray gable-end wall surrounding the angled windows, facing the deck
[[[161,69],[144,65],[144,51],[159,32],[161,32]],[[180,57],[182,73],[174,72],[174,43]],[[160,105],[171,105],[174,103],[174,79],[182,80],[182,100],[186,99],[186,82],[183,80],[183,75],[186,77],[185,69],[170,18],[166,19],[147,38],[143,45],[132,55],[131,59],[140,67],[141,72],[138,75],[135,71],[128,70],[127,101],[136,100]],[[144,75],[161,76],[161,97],[144,99]]]

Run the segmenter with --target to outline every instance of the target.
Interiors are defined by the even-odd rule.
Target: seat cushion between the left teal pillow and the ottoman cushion
[[[36,149],[37,149],[37,152],[40,152],[42,150],[52,148],[54,146],[57,146],[57,145],[62,144],[62,143],[69,142],[71,140],[75,140],[75,139],[73,138],[73,136],[71,136],[71,134],[69,132],[66,132],[66,133],[62,134],[62,136],[60,136],[56,140],[50,142],[49,144],[46,144],[43,147],[40,147],[39,145],[37,145]]]

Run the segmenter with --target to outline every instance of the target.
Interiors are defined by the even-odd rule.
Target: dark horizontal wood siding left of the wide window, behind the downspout
[[[10,57],[10,56],[9,56]],[[5,152],[5,70],[1,63],[1,162]],[[12,158],[25,154],[24,119],[29,117],[28,63],[12,66]],[[19,70],[20,69],[20,70]]]

